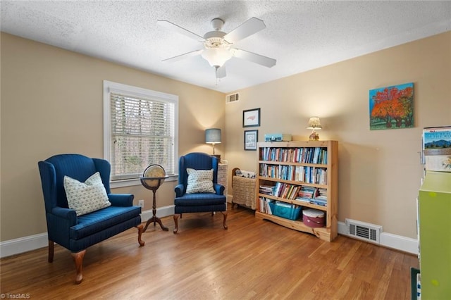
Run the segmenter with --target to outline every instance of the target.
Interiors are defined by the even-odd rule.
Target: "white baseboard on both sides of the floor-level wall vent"
[[[347,228],[344,222],[338,222],[338,233],[340,235],[345,235],[346,237],[352,237],[347,234]],[[402,237],[401,235],[393,235],[391,233],[382,232],[380,237],[380,245],[418,255],[417,239],[411,239],[409,237]]]

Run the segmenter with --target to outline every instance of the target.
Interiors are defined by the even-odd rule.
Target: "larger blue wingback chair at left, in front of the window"
[[[49,263],[54,259],[54,243],[70,250],[77,273],[75,282],[78,284],[83,279],[82,262],[87,247],[131,227],[137,227],[138,242],[144,246],[141,240],[141,207],[133,206],[132,194],[111,194],[111,165],[108,161],[80,154],[59,154],[39,161],[38,166],[47,218]],[[111,206],[77,216],[74,210],[68,208],[64,175],[85,182],[96,172],[100,173]]]

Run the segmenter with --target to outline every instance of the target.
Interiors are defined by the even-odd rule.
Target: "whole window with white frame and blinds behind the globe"
[[[104,158],[112,184],[136,180],[153,163],[175,175],[177,137],[178,96],[104,80]]]

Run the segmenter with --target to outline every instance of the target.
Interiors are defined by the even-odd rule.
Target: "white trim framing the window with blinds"
[[[174,113],[174,127],[175,127],[175,139],[174,139],[174,172],[175,175],[171,175],[166,179],[167,181],[178,180],[178,96],[173,94],[166,94],[163,92],[152,91],[151,89],[143,89],[141,87],[133,87],[131,85],[123,85],[118,82],[111,82],[104,80],[104,159],[111,161],[110,157],[110,140],[111,140],[111,105],[110,105],[110,93],[129,94],[134,96],[142,96],[150,99],[161,99],[163,101],[172,101],[175,103]],[[114,180],[110,182],[111,188],[116,187],[130,187],[132,185],[141,185],[139,178],[128,180]]]

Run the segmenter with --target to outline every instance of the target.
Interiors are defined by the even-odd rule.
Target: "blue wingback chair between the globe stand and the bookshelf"
[[[187,168],[194,170],[213,169],[213,185],[215,193],[186,194],[188,173]],[[218,158],[209,154],[193,152],[185,156],[180,156],[178,161],[178,185],[175,186],[175,208],[174,208],[174,233],[178,232],[178,218],[183,213],[204,213],[215,211],[223,214],[223,227],[227,229],[227,206],[226,196],[224,196],[223,185],[218,184]]]

